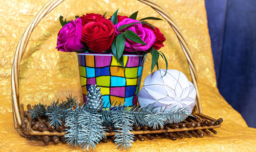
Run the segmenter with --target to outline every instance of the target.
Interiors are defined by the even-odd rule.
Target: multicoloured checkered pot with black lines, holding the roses
[[[103,107],[113,102],[137,104],[145,55],[123,55],[124,68],[112,54],[79,53],[77,57],[84,102],[90,86],[97,84]]]

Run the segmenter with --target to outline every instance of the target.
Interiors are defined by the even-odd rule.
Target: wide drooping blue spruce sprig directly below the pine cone
[[[95,148],[106,137],[102,123],[102,115],[89,110],[86,105],[77,106],[73,111],[69,109],[65,123],[69,126],[65,135],[67,143],[87,150]]]

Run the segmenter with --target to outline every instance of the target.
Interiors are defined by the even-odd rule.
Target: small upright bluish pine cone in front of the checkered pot
[[[103,107],[103,97],[100,93],[100,87],[97,85],[91,85],[91,88],[87,92],[87,107],[89,110],[98,112],[102,110]]]

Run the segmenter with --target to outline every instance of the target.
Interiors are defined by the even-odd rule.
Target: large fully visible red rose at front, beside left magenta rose
[[[87,23],[82,28],[82,41],[96,53],[109,50],[115,37],[115,27],[109,19],[99,19]]]

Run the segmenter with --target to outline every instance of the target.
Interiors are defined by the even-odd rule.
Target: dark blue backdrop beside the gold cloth
[[[256,128],[256,1],[205,0],[217,85]]]

